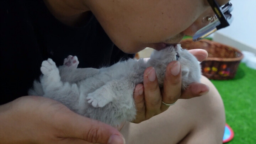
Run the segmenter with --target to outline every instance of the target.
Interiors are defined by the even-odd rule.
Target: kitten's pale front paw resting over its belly
[[[90,103],[93,107],[104,107],[109,102],[112,101],[112,96],[109,95],[106,89],[100,88],[97,89],[95,92],[88,94],[86,100]]]

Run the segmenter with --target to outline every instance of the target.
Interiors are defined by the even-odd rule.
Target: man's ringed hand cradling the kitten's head
[[[189,50],[199,61],[207,58],[208,53],[203,49]],[[166,111],[169,106],[178,99],[188,99],[206,94],[209,91],[207,85],[194,82],[185,91],[181,91],[181,66],[177,61],[171,62],[166,67],[164,86],[159,88],[153,67],[144,71],[143,84],[138,84],[134,89],[134,101],[137,108],[137,116],[133,121],[140,123],[159,113]]]

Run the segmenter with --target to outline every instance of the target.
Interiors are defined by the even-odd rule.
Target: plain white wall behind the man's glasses
[[[234,17],[229,27],[213,35],[213,40],[256,54],[256,0],[231,0]]]

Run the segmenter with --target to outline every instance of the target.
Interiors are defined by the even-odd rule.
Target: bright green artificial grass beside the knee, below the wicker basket
[[[256,144],[256,70],[240,63],[231,80],[211,80],[223,98],[226,123],[234,130],[228,144]]]

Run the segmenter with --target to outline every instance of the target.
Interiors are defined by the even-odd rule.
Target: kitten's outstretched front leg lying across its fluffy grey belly
[[[112,80],[88,94],[86,99],[93,107],[104,107],[110,102],[119,100],[121,100],[120,102],[127,103],[127,101],[131,102],[132,100],[134,87],[133,82],[129,80]]]

